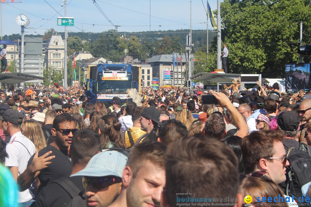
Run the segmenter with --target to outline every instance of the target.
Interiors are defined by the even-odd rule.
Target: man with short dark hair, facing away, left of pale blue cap
[[[94,130],[86,128],[75,133],[72,137],[72,145],[68,147],[68,155],[71,157],[73,164],[72,175],[80,173],[80,170],[83,171],[89,160],[98,153],[99,146],[100,138]],[[109,157],[108,159],[111,158]],[[70,194],[68,189],[75,190],[75,194]],[[42,188],[36,197],[35,207],[59,207],[67,205],[71,202],[72,197],[78,197],[81,191],[84,191],[82,176],[75,175],[74,177],[68,176],[61,178]],[[83,202],[85,205],[85,201]]]

